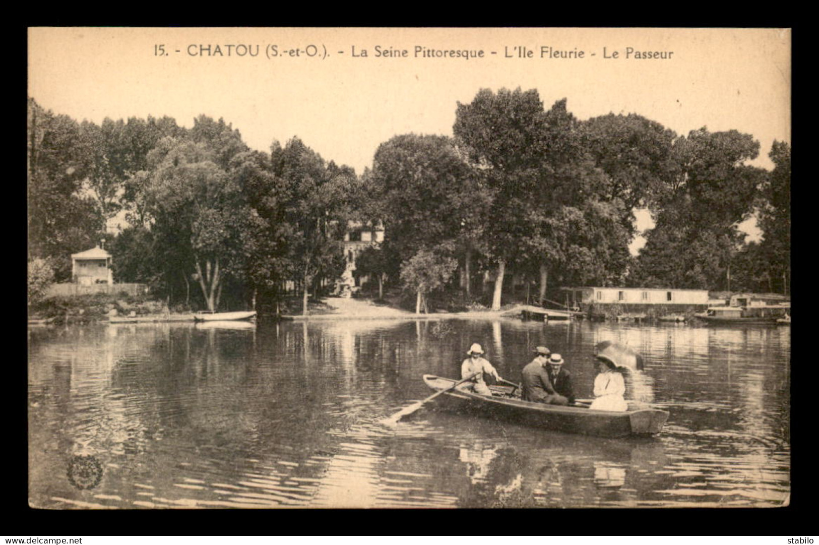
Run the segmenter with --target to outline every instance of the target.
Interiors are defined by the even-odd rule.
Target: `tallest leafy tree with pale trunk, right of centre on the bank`
[[[493,308],[509,264],[539,274],[541,301],[550,275],[600,284],[624,276],[633,219],[624,199],[643,197],[597,164],[608,128],[600,125],[582,125],[566,99],[544,111],[534,90],[483,90],[459,105],[455,135],[492,190],[484,225],[498,262]]]

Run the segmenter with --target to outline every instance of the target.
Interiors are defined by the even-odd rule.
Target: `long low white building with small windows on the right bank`
[[[572,307],[582,304],[707,305],[707,289],[563,288]]]

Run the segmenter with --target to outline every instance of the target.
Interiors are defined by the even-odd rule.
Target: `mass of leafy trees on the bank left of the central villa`
[[[48,263],[54,279],[70,280],[70,254],[105,238],[120,211],[128,226],[107,244],[115,279],[150,284],[170,302],[253,304],[296,279],[306,308],[310,289],[343,270],[358,179],[299,139],[256,152],[224,120],[97,126],[31,100],[28,160],[29,269],[38,278]]]

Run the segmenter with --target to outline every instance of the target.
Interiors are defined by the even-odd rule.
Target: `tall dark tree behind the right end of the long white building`
[[[758,155],[749,134],[691,131],[672,148],[672,175],[646,237],[633,284],[670,288],[725,288],[765,171],[745,162]]]

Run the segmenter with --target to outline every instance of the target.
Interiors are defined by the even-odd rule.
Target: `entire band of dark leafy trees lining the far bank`
[[[29,269],[37,285],[49,267],[68,280],[70,253],[124,216],[106,245],[117,281],[217,309],[278,299],[293,280],[306,311],[308,293],[342,273],[357,220],[386,228],[359,272],[379,296],[400,282],[417,310],[445,288],[481,297],[485,275],[493,308],[513,275],[541,300],[568,285],[789,288],[788,144],[774,143],[769,172],[748,165],[752,135],[678,136],[636,114],[581,121],[535,90],[482,89],[455,114],[453,137],[397,135],[356,175],[297,138],[251,150],[207,116],[190,129],[167,117],[95,125],[29,99]],[[631,257],[639,208],[656,225]],[[752,213],[763,237],[744,243],[737,225]]]

